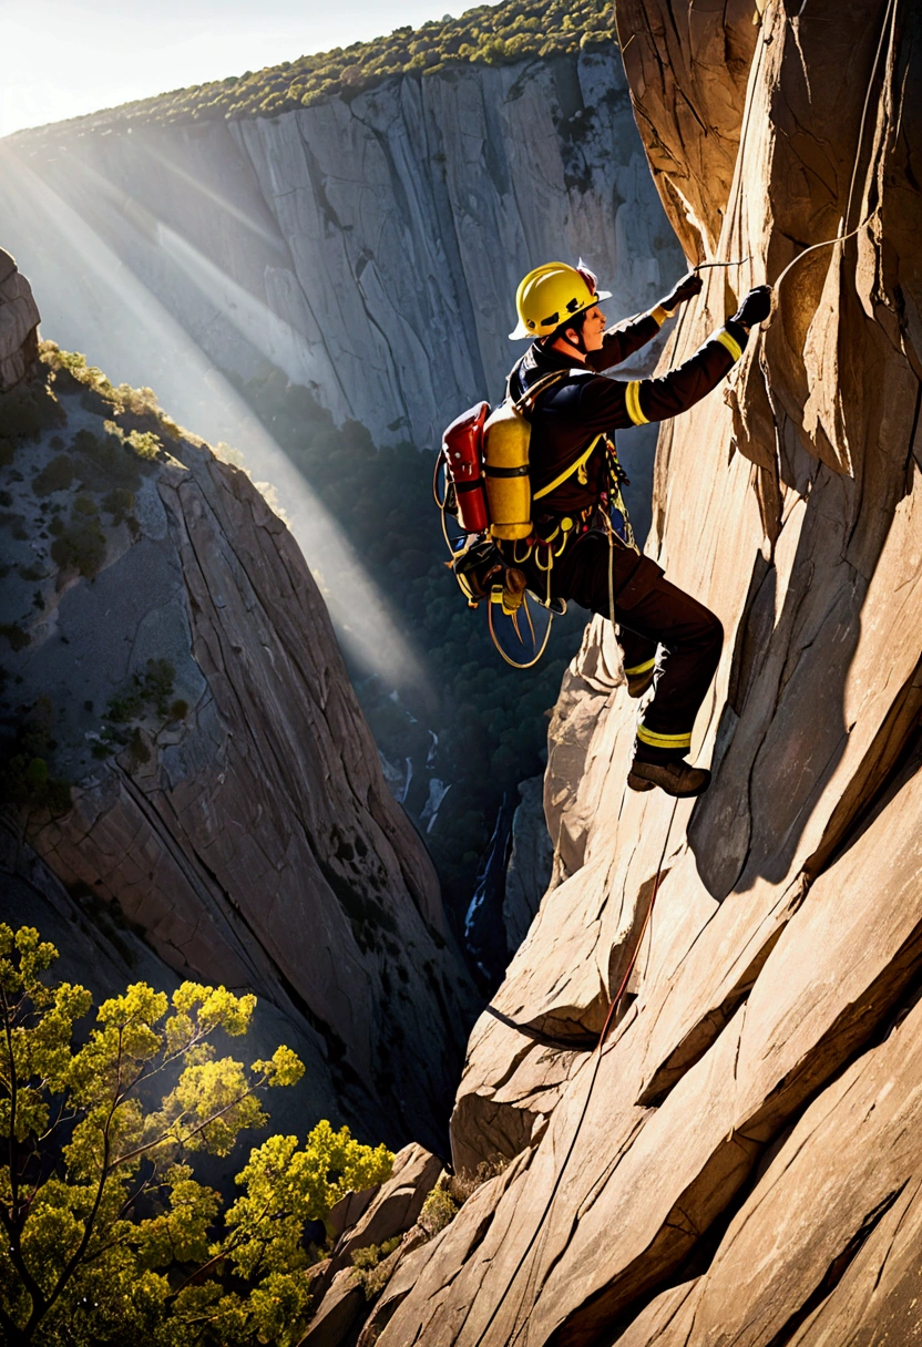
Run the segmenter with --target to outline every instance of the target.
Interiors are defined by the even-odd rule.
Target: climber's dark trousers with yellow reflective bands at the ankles
[[[636,756],[646,762],[675,761],[689,750],[694,718],[720,663],[724,628],[704,603],[670,585],[648,556],[638,556],[617,540],[609,550],[608,536],[598,529],[567,543],[554,559],[551,595],[609,617],[609,558],[624,667],[646,664],[662,647],[656,694],[638,729]],[[528,587],[543,598],[547,574],[539,563],[546,563],[543,547],[516,564]]]

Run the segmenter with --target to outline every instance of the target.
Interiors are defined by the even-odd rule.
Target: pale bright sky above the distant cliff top
[[[479,0],[0,0],[0,136],[460,15]]]

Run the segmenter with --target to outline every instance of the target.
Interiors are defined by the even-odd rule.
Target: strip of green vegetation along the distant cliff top
[[[468,9],[460,19],[446,16],[421,28],[395,28],[373,42],[353,42],[279,66],[174,89],[124,104],[111,114],[78,120],[108,124],[276,117],[337,94],[352,98],[394,75],[431,75],[470,63],[504,65],[530,57],[549,59],[612,40],[608,0],[507,0]]]

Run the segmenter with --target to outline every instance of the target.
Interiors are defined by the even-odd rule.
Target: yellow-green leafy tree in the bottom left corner
[[[92,997],[49,985],[55,958],[38,931],[0,925],[4,1340],[290,1347],[306,1324],[311,1222],[386,1179],[394,1157],[328,1122],[303,1146],[270,1137],[225,1211],[187,1160],[228,1156],[264,1125],[257,1092],[294,1084],[298,1057],[218,1057],[216,1033],[245,1033],[256,998],[190,982],[171,998],[128,987],[77,1041]]]

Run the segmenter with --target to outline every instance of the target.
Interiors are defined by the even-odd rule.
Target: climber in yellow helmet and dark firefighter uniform
[[[658,785],[674,796],[700,795],[710,781],[686,753],[724,633],[713,613],[640,554],[627,520],[617,531],[612,525],[625,481],[613,431],[677,416],[710,392],[743,354],[749,327],[768,317],[771,290],[751,290],[718,331],[660,379],[616,381],[593,372],[623,362],[651,341],[701,284],[689,272],[648,314],[607,331],[598,303],[611,296],[598,291],[592,272],[547,263],[519,286],[519,325],[510,334],[512,341],[534,339],[510,373],[508,396],[522,397],[554,370],[566,377],[539,393],[531,411],[534,533],[526,547],[501,543],[504,559],[524,571],[535,594],[573,599],[617,621],[629,695],[640,698],[655,680],[628,785]]]

